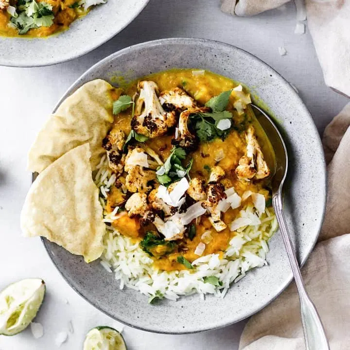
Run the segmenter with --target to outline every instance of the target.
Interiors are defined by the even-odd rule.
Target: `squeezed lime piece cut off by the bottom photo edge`
[[[126,350],[126,346],[121,333],[107,326],[99,326],[87,334],[84,350]]]

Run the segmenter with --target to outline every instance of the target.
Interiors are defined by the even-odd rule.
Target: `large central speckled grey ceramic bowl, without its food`
[[[260,59],[236,47],[200,39],[164,39],[126,48],[105,58],[83,74],[58,105],[89,80],[111,81],[116,72],[135,79],[169,68],[211,70],[243,82],[276,116],[287,144],[290,164],[285,185],[287,224],[304,263],[322,224],[326,199],[326,173],[321,142],[309,112],[296,91]],[[118,79],[117,79],[118,80]],[[312,166],[311,166],[312,165]],[[63,277],[82,297],[111,317],[130,326],[158,333],[192,333],[240,321],[270,303],[292,280],[287,254],[277,232],[270,241],[268,266],[255,269],[233,284],[223,299],[198,295],[149,305],[119,282],[100,263],[87,264],[79,256],[43,240]]]

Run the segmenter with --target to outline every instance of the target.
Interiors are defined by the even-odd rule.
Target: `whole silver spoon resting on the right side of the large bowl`
[[[305,290],[301,277],[299,265],[292,241],[289,235],[286,220],[283,214],[282,187],[287,175],[288,154],[287,149],[276,125],[269,116],[258,106],[251,105],[255,110],[254,113],[262,129],[265,131],[271,144],[273,145],[276,155],[276,171],[272,178],[272,204],[276,213],[277,221],[280,226],[283,242],[287,250],[290,265],[297,284],[297,291],[300,299],[301,321],[304,331],[305,343],[307,350],[329,350],[328,340],[317,313],[314,303]]]

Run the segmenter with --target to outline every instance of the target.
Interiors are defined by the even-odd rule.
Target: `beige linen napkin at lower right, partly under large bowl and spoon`
[[[350,349],[350,104],[327,126],[328,198],[319,242],[303,278],[324,323],[332,350]],[[253,316],[240,349],[304,350],[299,300],[293,282]]]

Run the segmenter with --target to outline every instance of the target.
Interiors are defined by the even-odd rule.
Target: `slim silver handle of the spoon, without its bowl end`
[[[287,250],[289,262],[292,267],[294,279],[297,285],[297,291],[300,299],[301,321],[304,331],[307,350],[329,350],[328,340],[317,313],[315,305],[308,296],[301,277],[297,257],[289,235],[288,227],[283,214],[282,197],[280,191],[272,198],[273,207],[276,213],[277,221],[280,226],[283,242]]]

